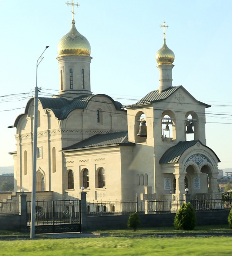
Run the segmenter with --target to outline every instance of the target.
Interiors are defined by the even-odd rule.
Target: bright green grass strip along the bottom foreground
[[[0,255],[231,255],[232,237],[39,239],[0,241]]]

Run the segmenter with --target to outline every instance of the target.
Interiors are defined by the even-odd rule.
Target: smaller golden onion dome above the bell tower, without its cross
[[[166,45],[166,40],[164,39],[163,46],[156,53],[156,61],[159,65],[170,65],[173,64],[175,60],[175,54]]]

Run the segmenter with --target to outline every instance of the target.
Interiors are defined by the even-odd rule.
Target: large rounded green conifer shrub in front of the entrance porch
[[[193,230],[196,226],[196,213],[193,209],[192,204],[183,203],[176,213],[174,219],[174,226],[180,230]]]

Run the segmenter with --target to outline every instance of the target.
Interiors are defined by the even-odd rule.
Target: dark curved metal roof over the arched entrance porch
[[[166,152],[160,158],[159,163],[160,164],[178,163],[180,157],[185,152],[185,150],[188,149],[189,147],[194,146],[197,142],[201,143],[200,140],[179,141],[175,146],[170,147],[168,150],[166,150]],[[203,145],[204,147],[207,147],[202,143],[201,143],[201,145]],[[211,148],[209,148],[209,147],[207,147],[207,148],[213,152],[213,150]],[[217,157],[216,154],[215,154],[215,156]],[[217,157],[217,160],[219,163],[221,162],[218,157]]]

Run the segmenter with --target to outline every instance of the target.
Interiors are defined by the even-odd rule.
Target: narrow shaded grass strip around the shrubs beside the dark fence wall
[[[173,233],[220,233],[232,234],[232,229],[228,225],[209,225],[196,226],[194,230],[177,230],[175,227],[151,227],[138,228],[137,231],[132,229],[111,229],[111,230],[97,230],[101,234],[110,234],[112,236],[136,236],[136,235],[152,235],[152,234],[173,234]]]

